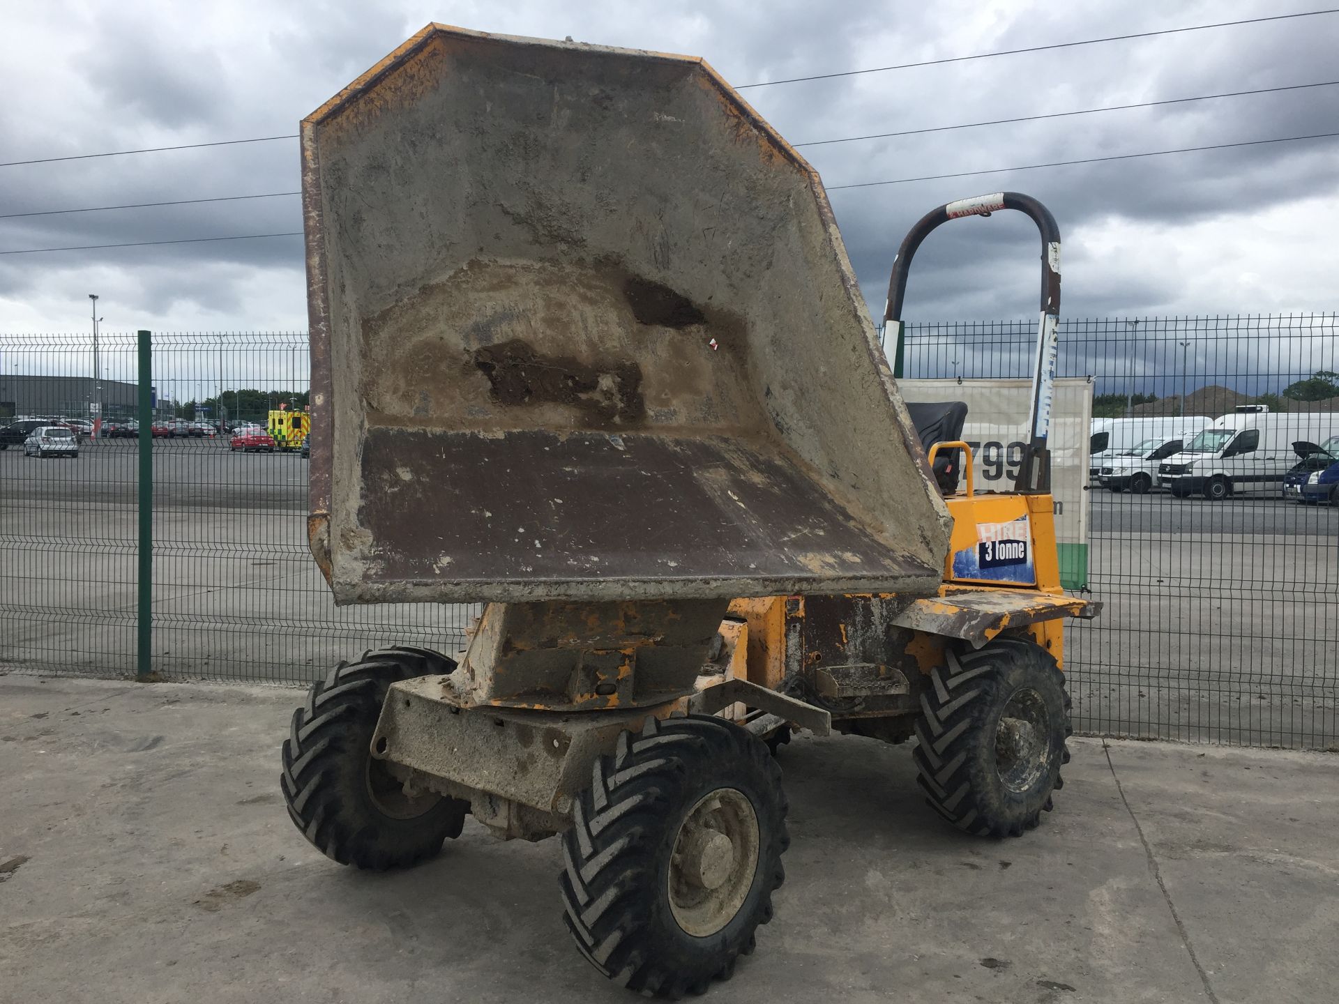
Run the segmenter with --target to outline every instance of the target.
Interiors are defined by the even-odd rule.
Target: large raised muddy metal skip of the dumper
[[[431,25],[304,120],[303,167],[340,602],[940,581],[818,177],[702,60]]]

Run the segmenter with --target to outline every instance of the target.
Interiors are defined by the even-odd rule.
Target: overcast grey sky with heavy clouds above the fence
[[[1316,9],[1214,0],[437,3],[9,0],[0,161],[295,133],[299,119],[430,20],[702,55],[727,80],[888,66]],[[1339,80],[1339,15],[744,91],[794,143],[1224,91]],[[1339,131],[1339,87],[802,147],[830,186]],[[924,212],[1036,195],[1065,234],[1071,317],[1332,311],[1339,139],[832,193],[866,297]],[[0,167],[0,214],[295,191],[280,141]],[[300,230],[296,197],[0,220],[0,250]],[[1036,309],[1020,214],[957,222],[916,261],[907,316]],[[303,329],[301,238],[0,256],[0,332]]]

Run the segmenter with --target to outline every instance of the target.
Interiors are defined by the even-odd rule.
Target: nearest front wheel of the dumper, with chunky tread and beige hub
[[[593,768],[562,834],[560,878],[581,954],[644,996],[728,980],[771,920],[790,845],[781,768],[719,718],[648,719]]]

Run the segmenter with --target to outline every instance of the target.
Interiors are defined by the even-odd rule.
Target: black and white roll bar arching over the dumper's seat
[[[932,209],[902,238],[897,257],[893,260],[893,274],[888,280],[888,301],[884,307],[884,341],[894,337],[893,376],[902,376],[902,301],[907,297],[907,276],[911,272],[916,249],[940,224],[965,216],[990,216],[1000,209],[1016,209],[1026,213],[1036,224],[1042,234],[1042,311],[1036,328],[1036,355],[1032,365],[1032,402],[1027,418],[1028,443],[1023,455],[1023,466],[1014,482],[1015,491],[1039,493],[1051,487],[1051,454],[1047,450],[1047,436],[1051,430],[1051,396],[1055,384],[1055,352],[1059,340],[1060,319],[1060,228],[1051,210],[1031,195],[1018,191],[996,191],[990,195],[975,195],[956,202],[948,202]]]

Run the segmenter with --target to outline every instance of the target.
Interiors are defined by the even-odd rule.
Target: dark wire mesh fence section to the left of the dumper
[[[135,336],[0,336],[0,665],[135,671],[139,436],[153,442],[153,664],[301,681],[384,644],[453,649],[458,605],[336,608],[307,549],[307,335],[154,335],[154,423],[134,422]],[[295,420],[295,414],[299,416]],[[25,448],[66,420],[78,455]],[[96,423],[96,435],[94,435]]]

